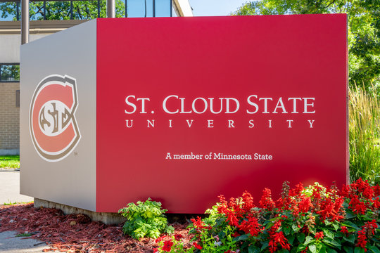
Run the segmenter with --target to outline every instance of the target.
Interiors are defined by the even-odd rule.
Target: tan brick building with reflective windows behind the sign
[[[20,5],[20,1],[0,0],[0,155],[20,153]],[[192,15],[188,0],[115,1],[116,18]],[[30,41],[106,16],[106,0],[32,1]]]

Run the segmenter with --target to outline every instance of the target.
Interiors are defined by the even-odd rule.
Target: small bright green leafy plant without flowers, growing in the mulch
[[[161,233],[170,234],[174,228],[167,226],[165,212],[167,209],[162,209],[161,203],[151,201],[151,198],[145,202],[138,201],[137,205],[129,203],[127,207],[119,210],[119,213],[127,218],[122,231],[135,239],[158,238]]]

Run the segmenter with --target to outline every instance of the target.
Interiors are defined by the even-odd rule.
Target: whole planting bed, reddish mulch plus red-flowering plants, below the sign
[[[250,193],[218,202],[201,219],[172,223],[175,232],[135,240],[122,225],[106,226],[82,214],[63,215],[32,205],[0,207],[0,232],[32,233],[61,252],[374,252],[379,253],[380,187],[357,180],[338,190],[318,183],[289,188],[272,200],[263,191],[258,206]],[[186,226],[188,228],[186,228]]]

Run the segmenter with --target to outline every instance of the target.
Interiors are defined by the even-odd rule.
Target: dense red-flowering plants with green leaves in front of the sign
[[[338,190],[318,183],[290,189],[272,200],[265,188],[253,204],[250,193],[220,202],[205,219],[193,219],[194,246],[162,240],[156,252],[374,252],[378,253],[380,187],[357,180]]]

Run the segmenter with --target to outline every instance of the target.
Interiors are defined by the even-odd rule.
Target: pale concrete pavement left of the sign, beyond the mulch
[[[20,171],[0,169],[0,205],[33,201],[33,197],[20,195]]]

